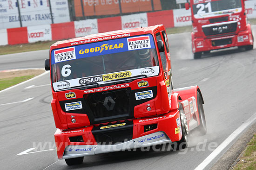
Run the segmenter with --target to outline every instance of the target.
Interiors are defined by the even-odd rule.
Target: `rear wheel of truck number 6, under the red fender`
[[[202,96],[199,92],[197,92],[197,108],[198,108],[199,119],[200,119],[200,125],[197,127],[197,130],[200,132],[201,135],[204,135],[207,132],[207,128],[206,128],[204,110],[202,106]]]

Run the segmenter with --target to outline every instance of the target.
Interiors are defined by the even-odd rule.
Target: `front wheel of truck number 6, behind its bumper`
[[[181,119],[181,127],[182,127],[182,139],[177,142],[178,150],[185,149],[188,146],[188,142],[189,142],[188,122],[187,122],[187,118],[181,103],[179,103],[179,111],[180,111],[180,119]]]

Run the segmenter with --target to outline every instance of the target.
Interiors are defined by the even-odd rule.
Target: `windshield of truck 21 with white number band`
[[[198,3],[193,5],[195,18],[209,17],[222,13],[241,12],[241,0],[212,0],[211,2]]]

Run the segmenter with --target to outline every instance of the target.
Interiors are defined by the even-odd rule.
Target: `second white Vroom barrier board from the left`
[[[74,33],[75,37],[98,33],[97,19],[74,21]]]

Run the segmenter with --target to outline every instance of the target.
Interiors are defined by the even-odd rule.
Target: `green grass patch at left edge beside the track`
[[[0,79],[0,90],[3,90],[5,88],[9,88],[9,87],[11,87],[15,84],[20,83],[20,82],[24,82],[28,79],[31,79],[32,77],[34,77],[34,75],[11,77],[11,78],[2,78],[2,79]]]

